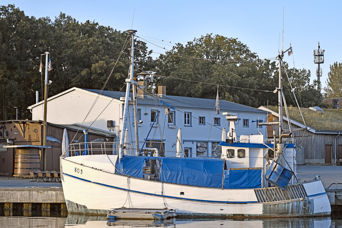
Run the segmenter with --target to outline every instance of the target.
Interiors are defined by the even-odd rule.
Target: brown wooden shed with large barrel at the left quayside
[[[47,123],[46,169],[60,170],[62,138],[67,130],[69,143],[84,142],[83,129],[79,124],[57,125]],[[8,120],[0,121],[0,176],[27,176],[28,170],[42,170],[43,121]],[[88,142],[105,140],[115,142],[116,135],[89,128]]]

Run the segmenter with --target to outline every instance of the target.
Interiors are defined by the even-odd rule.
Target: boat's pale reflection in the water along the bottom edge
[[[174,227],[174,228],[313,228],[313,227],[342,227],[341,220],[331,220],[330,217],[316,218],[234,218],[234,219],[170,219],[163,221],[153,220],[107,220],[105,216],[71,215],[66,219],[66,228],[90,227]]]

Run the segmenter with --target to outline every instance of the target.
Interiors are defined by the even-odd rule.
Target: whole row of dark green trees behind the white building
[[[42,94],[43,90],[44,73],[38,68],[44,52],[51,53],[49,97],[74,86],[102,89],[110,73],[104,89],[119,91],[128,75],[130,39],[127,32],[94,21],[79,23],[64,13],[54,20],[36,19],[14,5],[0,6],[0,119],[14,119],[14,106],[19,119],[31,118],[27,107],[35,103],[35,91]],[[153,78],[145,79],[150,91],[167,85],[169,95],[215,99],[219,84],[220,99],[252,107],[278,102],[272,93],[278,84],[275,62],[260,59],[237,38],[207,34],[186,45],[176,44],[156,60],[151,53],[146,43],[135,40],[135,69],[155,72]],[[300,105],[320,104],[321,95],[310,84],[310,71],[289,69],[287,64],[285,69],[300,95]],[[285,94],[286,102],[295,104],[290,95]]]

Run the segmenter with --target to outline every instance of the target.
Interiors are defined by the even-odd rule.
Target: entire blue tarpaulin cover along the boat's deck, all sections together
[[[123,156],[116,162],[116,173],[143,178],[144,162],[149,159],[161,161],[162,182],[226,189],[261,188],[261,169],[223,170],[223,159]]]

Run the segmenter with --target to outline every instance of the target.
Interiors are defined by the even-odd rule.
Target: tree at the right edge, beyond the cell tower
[[[327,87],[324,89],[326,98],[342,97],[342,64],[334,63],[330,65],[328,72]]]

